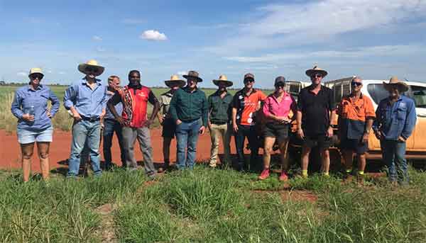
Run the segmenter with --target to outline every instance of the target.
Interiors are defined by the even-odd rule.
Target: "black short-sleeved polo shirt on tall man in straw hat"
[[[321,86],[318,94],[310,85],[300,91],[297,111],[302,112],[302,129],[307,136],[325,135],[330,124],[330,112],[335,109],[333,91]]]

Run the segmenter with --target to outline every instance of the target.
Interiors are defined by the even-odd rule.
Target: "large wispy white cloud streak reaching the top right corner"
[[[267,5],[253,11],[253,15],[255,21],[240,26],[235,37],[207,50],[229,55],[229,52],[327,43],[337,35],[398,26],[426,16],[426,1],[311,1]]]

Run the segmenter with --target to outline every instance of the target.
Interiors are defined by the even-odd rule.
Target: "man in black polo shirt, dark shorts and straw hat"
[[[322,158],[322,173],[329,176],[329,146],[336,109],[333,101],[333,91],[321,84],[327,71],[320,67],[308,69],[306,75],[312,84],[300,91],[297,99],[297,135],[303,140],[302,144],[302,176],[307,177],[307,166],[312,147],[319,147]]]

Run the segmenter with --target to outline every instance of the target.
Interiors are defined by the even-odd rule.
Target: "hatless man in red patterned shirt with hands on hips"
[[[115,105],[119,102],[123,103],[121,115],[117,113],[115,108]],[[149,119],[147,119],[148,102],[154,106],[153,113],[151,113]],[[155,168],[149,126],[153,123],[160,109],[160,103],[151,89],[141,85],[141,73],[138,70],[129,72],[129,84],[116,91],[114,96],[108,101],[108,108],[116,120],[123,125],[124,154],[129,170],[136,170],[138,166],[133,149],[137,139],[143,154],[145,173],[149,179],[154,179]]]

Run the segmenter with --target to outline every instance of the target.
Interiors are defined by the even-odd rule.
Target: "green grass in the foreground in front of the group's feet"
[[[397,188],[384,178],[361,187],[314,175],[285,189],[276,176],[257,181],[204,166],[149,183],[143,171],[120,169],[77,181],[54,176],[48,184],[24,184],[19,173],[0,174],[0,242],[103,242],[98,208],[105,204],[114,205],[109,230],[120,242],[426,239],[426,174],[413,169],[410,186]],[[317,200],[300,196],[306,193]]]

